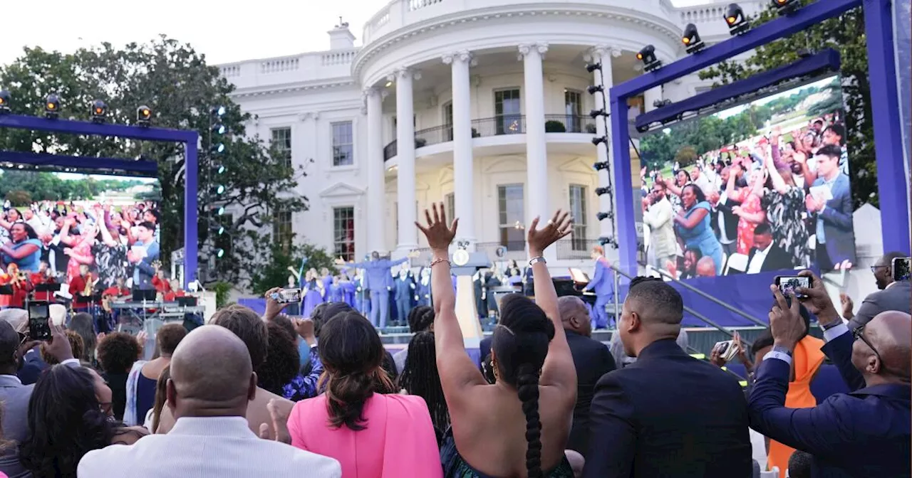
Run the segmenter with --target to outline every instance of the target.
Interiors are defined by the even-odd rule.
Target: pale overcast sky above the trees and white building
[[[671,0],[675,5],[705,0]],[[0,65],[23,46],[71,52],[108,41],[115,46],[159,34],[190,43],[210,64],[329,48],[338,17],[360,44],[361,27],[389,0],[2,0]],[[218,5],[218,6],[214,6]],[[213,7],[214,6],[214,7]],[[237,6],[240,6],[238,8]]]

